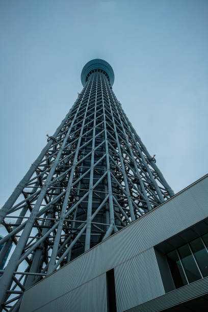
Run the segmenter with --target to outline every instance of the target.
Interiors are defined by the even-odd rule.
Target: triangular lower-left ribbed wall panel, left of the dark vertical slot
[[[52,285],[47,285],[50,291],[57,287],[57,280],[54,280]],[[46,286],[46,285],[45,285]],[[45,288],[42,288],[42,294],[45,293]],[[58,291],[58,289],[57,289]],[[39,298],[39,292],[33,293],[33,296]],[[86,300],[87,298],[87,300]],[[38,299],[39,301],[39,299]],[[24,301],[24,308],[22,311],[32,312],[107,312],[107,290],[106,290],[106,274],[102,274],[93,280],[81,285],[72,291],[69,291],[60,297],[51,300],[50,302],[40,306],[40,304],[31,304],[31,298],[27,297]]]

